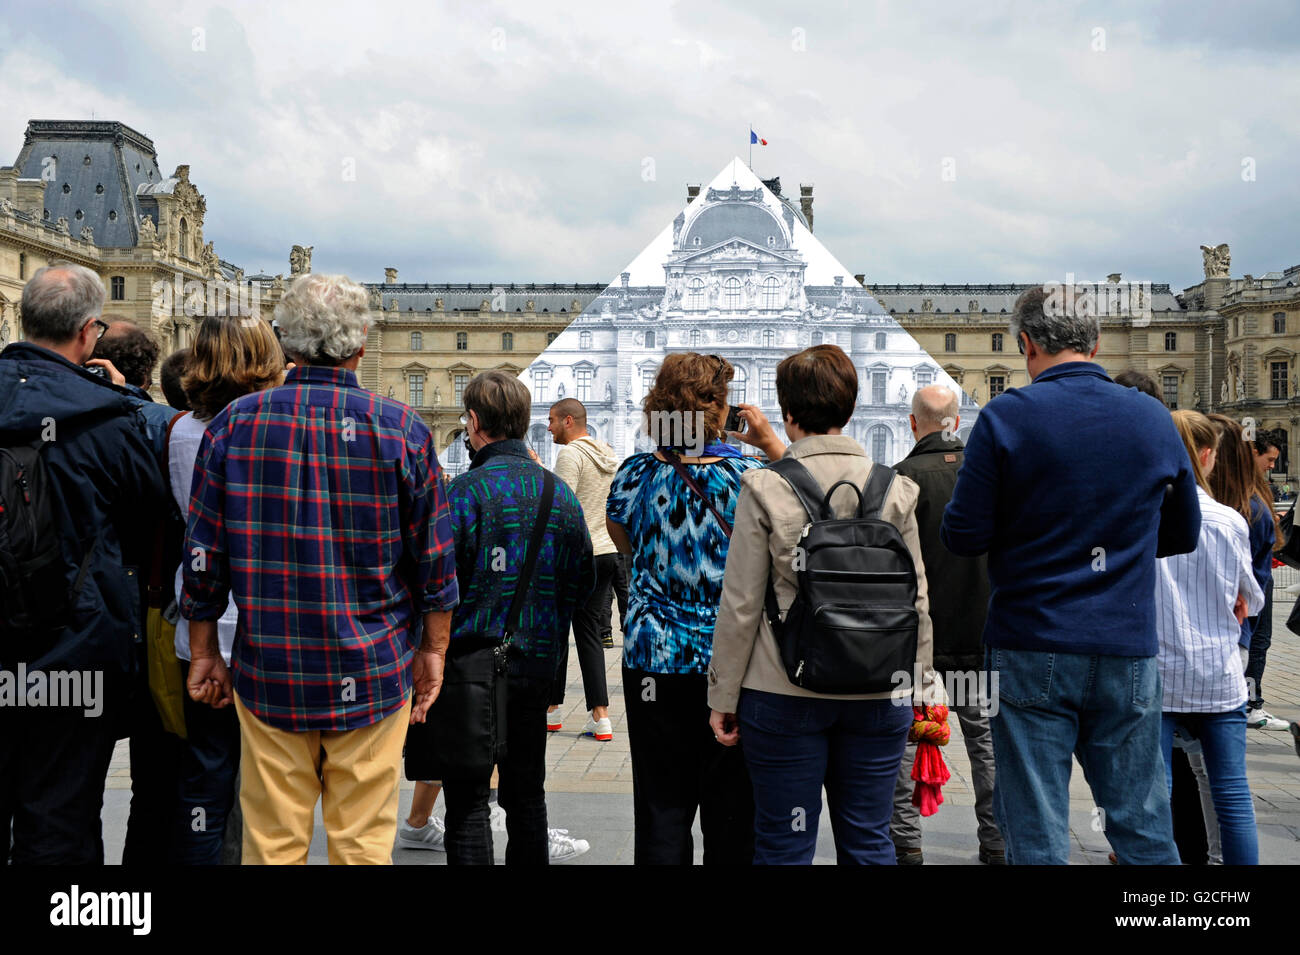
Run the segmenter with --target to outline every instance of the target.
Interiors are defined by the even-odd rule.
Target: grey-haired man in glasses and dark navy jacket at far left
[[[64,568],[57,594],[31,595],[57,602],[57,620],[20,633],[0,612],[0,832],[13,826],[14,863],[104,860],[104,778],[144,633],[136,528],[168,498],[136,403],[83,368],[103,305],[90,269],[40,269],[22,292],[26,340],[0,353],[0,447],[39,444]]]

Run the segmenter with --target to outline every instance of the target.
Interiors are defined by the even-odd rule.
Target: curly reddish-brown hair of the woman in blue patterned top
[[[660,447],[684,447],[699,439],[722,440],[727,422],[727,386],[736,369],[722,355],[676,352],[659,366],[642,408],[647,434]],[[685,426],[688,414],[701,414]],[[694,424],[699,421],[702,429]]]

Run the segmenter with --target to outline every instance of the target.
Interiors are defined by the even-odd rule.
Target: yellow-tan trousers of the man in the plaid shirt
[[[330,865],[391,865],[411,700],[370,726],[289,733],[235,694],[244,865],[304,865],[316,800]]]

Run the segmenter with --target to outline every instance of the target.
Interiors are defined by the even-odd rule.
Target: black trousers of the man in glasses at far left
[[[105,715],[0,707],[0,832],[14,865],[103,865],[104,780],[117,743]]]

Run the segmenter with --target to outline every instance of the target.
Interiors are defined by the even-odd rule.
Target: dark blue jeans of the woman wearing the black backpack
[[[841,865],[894,865],[894,781],[911,707],[742,690],[738,711],[754,783],[754,864],[807,865],[822,787]]]

